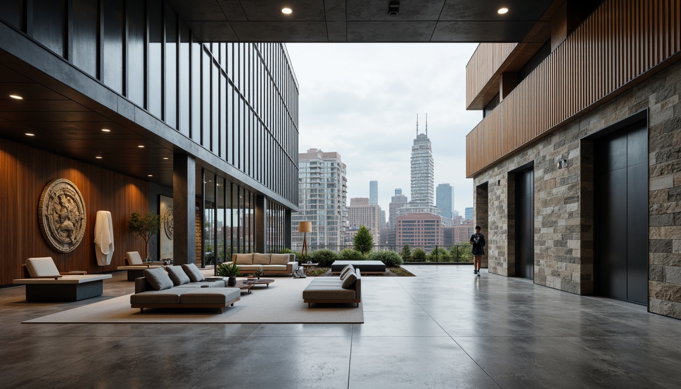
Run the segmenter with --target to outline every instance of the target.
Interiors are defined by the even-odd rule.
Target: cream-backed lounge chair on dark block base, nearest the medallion
[[[78,301],[101,296],[102,281],[111,278],[110,274],[60,273],[52,257],[29,258],[23,266],[25,278],[13,282],[26,285],[27,301]]]

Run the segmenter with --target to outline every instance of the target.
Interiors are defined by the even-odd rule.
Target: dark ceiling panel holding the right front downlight
[[[440,20],[539,20],[554,0],[447,0]],[[508,8],[506,14],[498,14],[501,7]],[[400,12],[401,14],[402,12]]]

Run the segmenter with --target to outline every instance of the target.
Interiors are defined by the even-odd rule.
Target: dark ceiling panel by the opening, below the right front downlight
[[[520,42],[535,22],[438,22],[435,42]]]

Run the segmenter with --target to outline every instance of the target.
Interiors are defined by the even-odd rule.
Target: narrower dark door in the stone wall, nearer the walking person
[[[535,170],[516,173],[516,275],[535,279]]]

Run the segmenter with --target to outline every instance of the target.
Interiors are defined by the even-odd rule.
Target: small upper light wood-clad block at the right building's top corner
[[[516,46],[517,43],[481,43],[477,46],[466,65],[466,107],[471,105]]]

